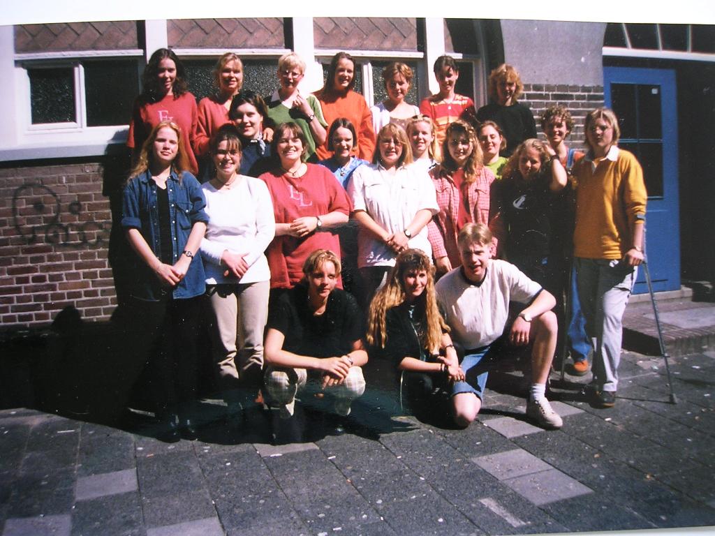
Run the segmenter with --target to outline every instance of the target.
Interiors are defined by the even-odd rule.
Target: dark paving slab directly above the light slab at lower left
[[[82,426],[79,440],[79,476],[121,471],[135,467],[134,437],[101,425]]]

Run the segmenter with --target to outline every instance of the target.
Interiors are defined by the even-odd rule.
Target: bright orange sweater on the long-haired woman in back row
[[[355,134],[358,134],[354,144],[357,148],[355,154],[358,158],[372,162],[375,152],[375,131],[373,131],[373,114],[370,113],[370,106],[365,101],[365,97],[352,89],[344,96],[338,96],[333,92],[324,93],[322,90],[316,91],[315,96],[320,101],[322,116],[327,122],[325,130],[329,132],[332,121],[339,117],[350,119],[355,126]],[[332,157],[332,152],[327,150],[328,142],[330,140],[327,140],[322,147],[316,148],[317,156],[321,160]]]

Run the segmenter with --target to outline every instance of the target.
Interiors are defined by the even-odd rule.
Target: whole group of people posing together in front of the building
[[[388,98],[372,107],[353,89],[356,66],[335,54],[325,85],[305,94],[305,62],[285,54],[264,98],[242,90],[242,62],[227,53],[217,93],[197,104],[174,52],[149,59],[127,142],[121,224],[136,267],[124,307],[164,436],[197,434],[206,302],[229,415],[258,395],[290,420],[297,393],[312,391],[346,416],[370,354],[395,364],[413,410],[440,393],[465,427],[503,349],[531,345],[527,416],[558,428],[546,384],[566,326],[573,373],[588,372],[593,345],[593,400],[613,406],[646,207],[613,112],[586,116],[588,152],[576,152],[563,106],[536,139],[508,64],[478,110],[455,94],[450,56],[419,108],[405,101],[408,65],[385,67]]]

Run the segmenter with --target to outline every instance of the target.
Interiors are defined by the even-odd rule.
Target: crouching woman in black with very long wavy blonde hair
[[[435,297],[434,267],[419,249],[398,255],[388,282],[375,294],[368,317],[368,344],[400,374],[400,402],[418,415],[433,407],[435,388],[464,379],[449,327]]]

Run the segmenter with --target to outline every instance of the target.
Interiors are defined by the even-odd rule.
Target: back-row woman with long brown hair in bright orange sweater
[[[322,115],[327,124],[339,117],[349,119],[355,125],[357,137],[355,146],[358,157],[370,161],[375,152],[375,131],[373,130],[373,115],[365,97],[355,93],[355,60],[347,52],[338,52],[332,56],[327,69],[325,86],[315,93]],[[317,155],[321,160],[330,158],[331,152],[327,142],[317,147]]]

